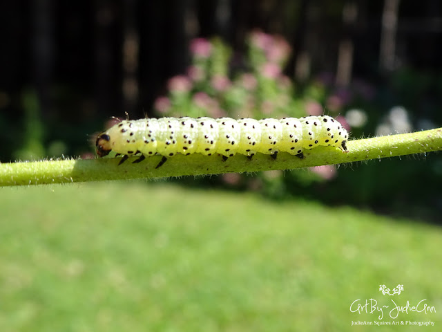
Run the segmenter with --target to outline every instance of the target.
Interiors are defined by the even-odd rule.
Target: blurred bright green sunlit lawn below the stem
[[[442,326],[433,225],[162,183],[3,188],[0,212],[0,331],[416,330],[350,326],[370,298]]]

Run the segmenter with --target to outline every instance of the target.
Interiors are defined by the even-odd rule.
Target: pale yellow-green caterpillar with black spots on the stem
[[[348,133],[330,116],[306,116],[255,120],[243,118],[145,118],[123,120],[100,133],[96,140],[99,157],[110,151],[123,155],[119,165],[129,156],[163,156],[158,168],[175,154],[222,155],[223,160],[243,154],[257,153],[276,159],[279,151],[304,158],[302,151],[325,145],[347,151]]]

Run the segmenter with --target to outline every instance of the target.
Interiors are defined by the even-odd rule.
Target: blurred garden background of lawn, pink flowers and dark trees
[[[1,163],[95,158],[125,113],[442,123],[439,0],[3,1],[0,41]],[[433,153],[3,188],[0,327],[349,331],[379,284],[441,312],[441,186]]]

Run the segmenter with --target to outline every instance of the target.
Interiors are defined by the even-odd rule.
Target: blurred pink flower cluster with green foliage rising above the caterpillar
[[[220,39],[193,39],[186,75],[171,77],[168,94],[157,98],[155,111],[215,118],[305,116],[304,102],[294,101],[294,84],[283,74],[290,55],[285,39],[256,30],[247,46],[247,59],[232,60],[233,51]]]

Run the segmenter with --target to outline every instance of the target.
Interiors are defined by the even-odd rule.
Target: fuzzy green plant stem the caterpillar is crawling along
[[[141,163],[131,163],[129,158],[118,166],[119,158],[93,160],[41,160],[27,163],[0,164],[0,186],[43,185],[131,178],[163,178],[170,176],[221,174],[231,172],[261,172],[272,169],[296,169],[320,165],[352,163],[407,154],[423,154],[442,150],[442,128],[401,135],[350,140],[349,151],[336,147],[316,147],[304,152],[305,158],[280,153],[273,160],[258,154],[249,160],[237,154],[222,162],[221,156],[174,156],[162,167],[155,169],[161,156],[148,157]]]

